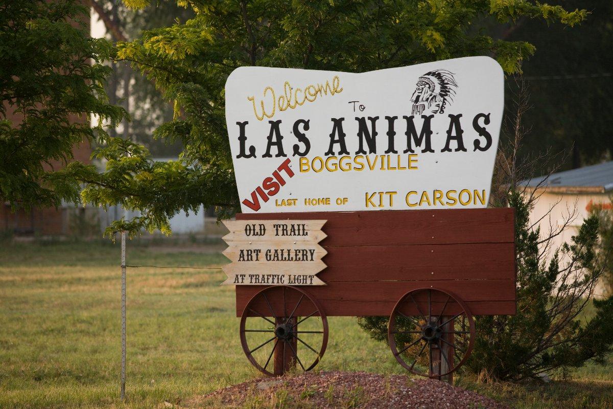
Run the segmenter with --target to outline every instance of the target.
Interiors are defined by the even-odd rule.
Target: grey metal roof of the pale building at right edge
[[[613,191],[613,161],[598,165],[565,170],[549,176],[535,177],[520,182],[530,187],[543,187],[549,191],[568,193],[606,193]]]

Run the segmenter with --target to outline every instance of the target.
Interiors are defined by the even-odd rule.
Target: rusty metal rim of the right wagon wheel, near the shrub
[[[395,318],[397,317],[397,315],[400,313],[399,309],[402,306],[403,302],[407,299],[410,298],[411,296],[413,296],[414,294],[417,294],[417,292],[420,291],[429,291],[430,297],[432,296],[432,291],[436,291],[436,292],[442,292],[443,294],[445,294],[446,296],[449,297],[449,299],[447,299],[447,302],[451,299],[454,300],[454,302],[456,302],[460,308],[462,308],[462,312],[455,315],[454,319],[457,318],[460,315],[465,315],[466,319],[468,320],[468,327],[470,329],[470,337],[468,339],[468,346],[466,347],[466,351],[462,357],[462,359],[460,359],[460,361],[457,364],[454,364],[450,370],[448,370],[447,372],[444,373],[440,373],[440,374],[435,374],[433,375],[432,373],[428,373],[425,374],[423,372],[418,372],[416,370],[414,370],[414,363],[413,365],[409,365],[407,364],[404,359],[402,358],[402,352],[398,353],[398,348],[396,345],[396,338],[395,338],[395,332],[394,332],[394,327],[395,327]],[[413,299],[414,304],[417,304],[414,299]],[[444,313],[444,308],[440,313],[439,319],[441,316],[443,316]],[[400,313],[402,315],[402,313]],[[425,316],[424,314],[422,314],[422,316]],[[428,320],[432,317],[432,313],[430,311],[428,311]],[[444,289],[440,289],[440,288],[417,288],[414,290],[411,290],[409,292],[407,292],[404,296],[402,296],[398,302],[394,305],[394,310],[392,310],[392,313],[390,314],[390,319],[389,319],[389,323],[387,325],[387,340],[389,342],[389,346],[390,349],[392,350],[392,354],[394,354],[394,357],[396,359],[396,361],[398,361],[398,363],[400,365],[402,365],[403,368],[405,368],[406,370],[408,370],[411,373],[414,373],[415,375],[419,375],[422,377],[427,377],[427,378],[438,378],[438,377],[443,377],[445,375],[449,375],[449,373],[454,372],[455,370],[459,369],[459,367],[461,367],[464,362],[466,361],[466,359],[468,359],[468,357],[470,357],[470,354],[473,351],[473,346],[474,346],[474,338],[475,338],[475,325],[474,325],[474,319],[473,319],[473,315],[470,313],[470,310],[468,309],[468,306],[466,305],[465,302],[462,301],[462,299],[460,299],[458,296],[456,296],[453,292],[451,291],[447,291]],[[418,338],[422,339],[422,338]],[[424,346],[428,345],[428,343],[424,343]],[[430,352],[431,354],[431,352]],[[417,357],[419,358],[419,356]],[[432,359],[432,355],[430,355],[430,360]],[[430,362],[430,365],[428,367],[428,372],[432,369],[432,362]]]

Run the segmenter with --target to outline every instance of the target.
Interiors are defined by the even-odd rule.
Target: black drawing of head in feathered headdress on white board
[[[453,101],[457,86],[452,72],[444,69],[426,72],[417,79],[411,96],[412,115],[443,113]]]

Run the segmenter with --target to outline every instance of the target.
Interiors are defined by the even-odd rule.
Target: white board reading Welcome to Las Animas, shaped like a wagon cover
[[[488,57],[362,74],[240,67],[226,83],[243,213],[486,207],[502,115]]]

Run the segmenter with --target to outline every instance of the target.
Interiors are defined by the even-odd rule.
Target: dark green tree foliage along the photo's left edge
[[[0,197],[13,209],[78,202],[79,181],[56,170],[78,143],[104,140],[89,115],[126,115],[107,102],[111,47],[89,38],[88,18],[72,0],[0,1]]]

